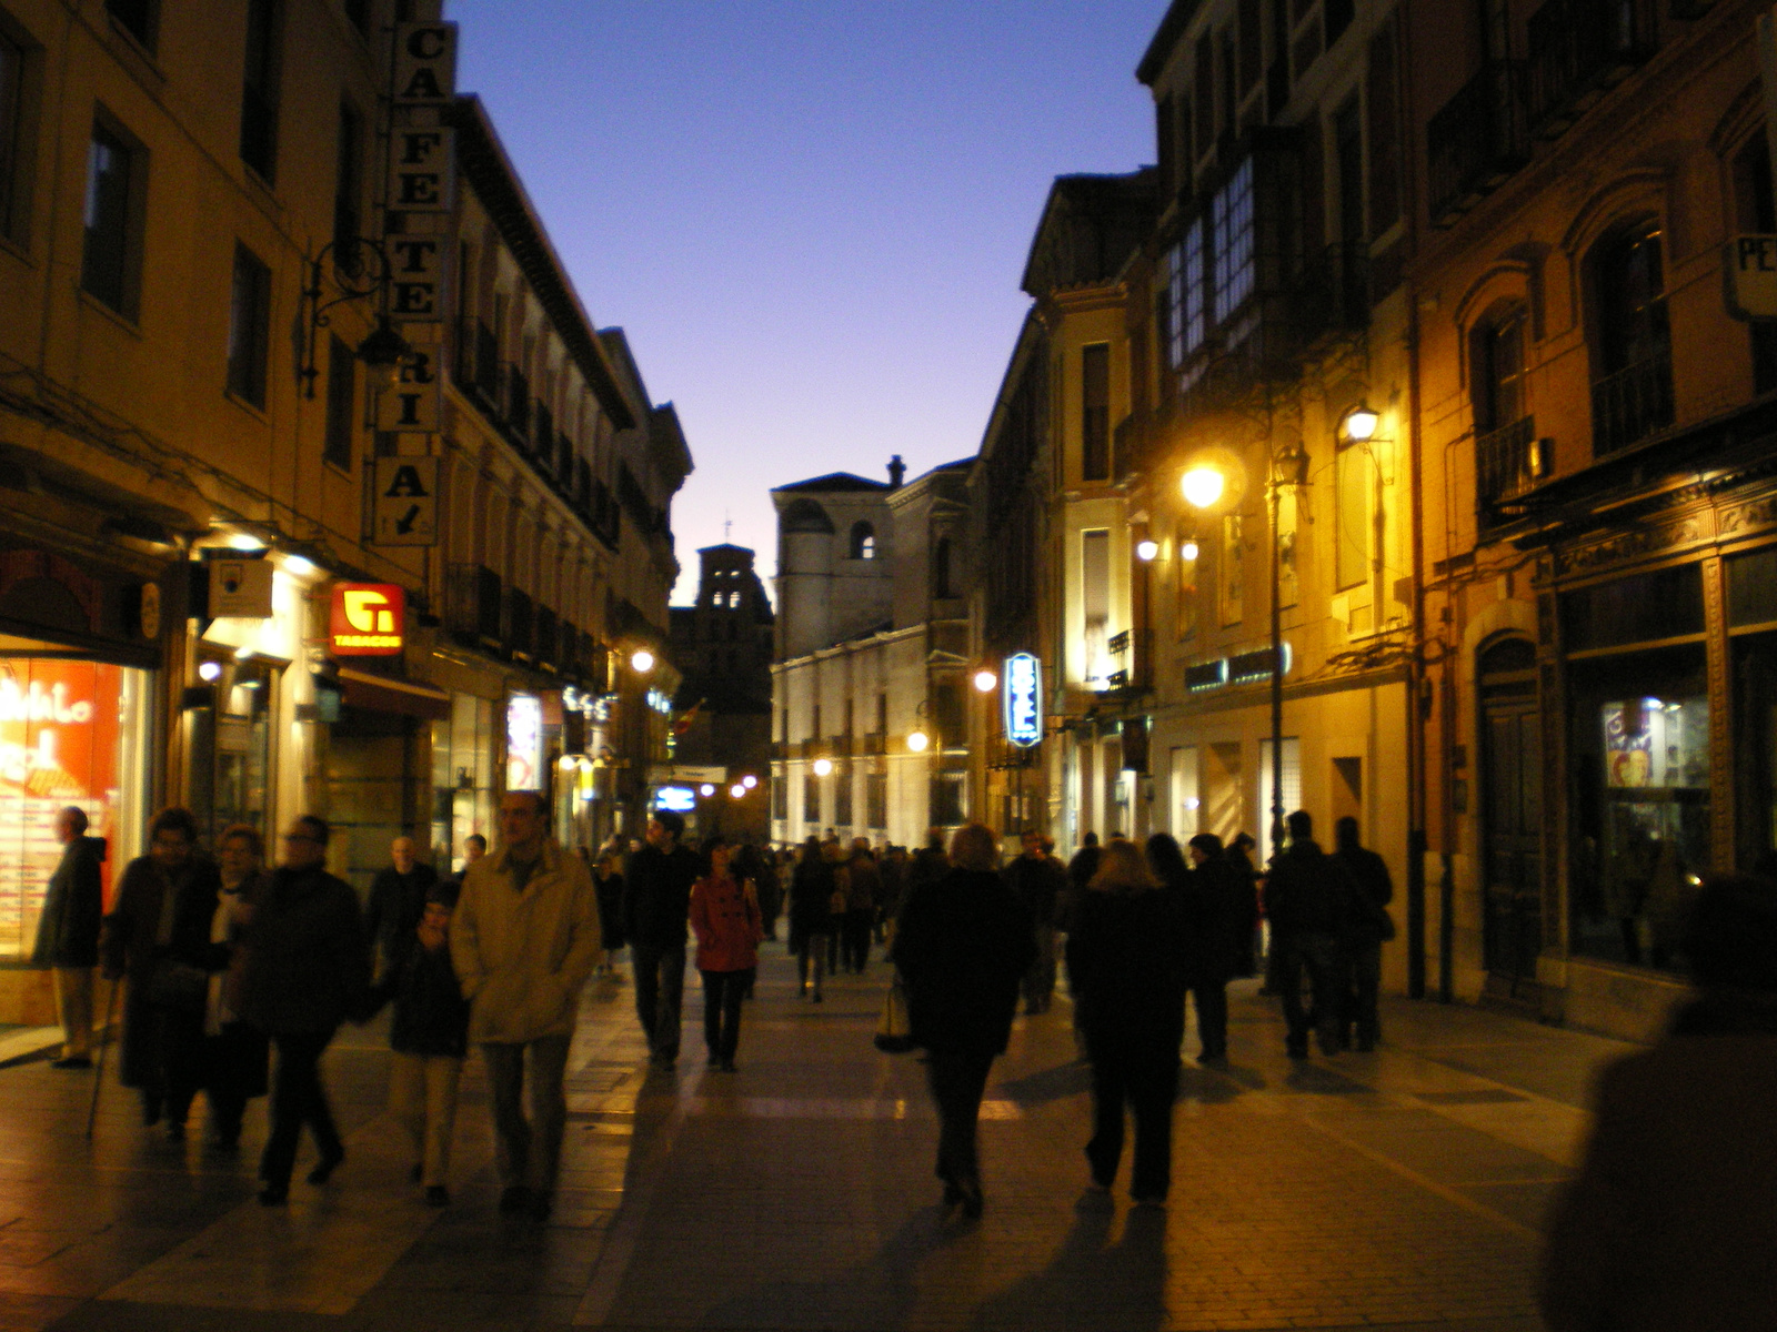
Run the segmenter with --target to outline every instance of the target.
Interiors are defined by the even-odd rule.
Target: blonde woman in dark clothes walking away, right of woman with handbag
[[[1093,1137],[1086,1144],[1093,1188],[1109,1190],[1116,1179],[1127,1103],[1136,1119],[1128,1192],[1151,1206],[1166,1202],[1171,1183],[1185,1018],[1185,941],[1169,897],[1132,844],[1112,842],[1068,932],[1068,975],[1084,1000],[1080,1027],[1093,1062]]]

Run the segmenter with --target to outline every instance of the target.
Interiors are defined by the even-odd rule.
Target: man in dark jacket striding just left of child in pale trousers
[[[277,1046],[272,1135],[259,1158],[259,1202],[268,1208],[290,1197],[304,1124],[320,1153],[311,1185],[325,1185],[345,1160],[320,1057],[339,1023],[366,1011],[370,948],[357,893],[327,872],[327,821],[313,813],[290,826],[284,863],[270,876],[245,934],[242,1016]]]

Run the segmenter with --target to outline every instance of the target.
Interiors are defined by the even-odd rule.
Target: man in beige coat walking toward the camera
[[[506,794],[499,854],[469,867],[450,931],[451,964],[471,1002],[469,1039],[482,1046],[494,1101],[499,1209],[537,1220],[554,1197],[567,1122],[562,1078],[579,993],[602,945],[592,876],[549,840],[547,826],[540,792]]]

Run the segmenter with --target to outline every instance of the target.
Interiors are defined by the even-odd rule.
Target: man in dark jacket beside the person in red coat
[[[661,810],[649,840],[624,867],[624,934],[636,968],[636,1018],[656,1067],[679,1062],[679,1005],[684,1002],[684,941],[691,884],[702,867],[688,847],[684,817]]]

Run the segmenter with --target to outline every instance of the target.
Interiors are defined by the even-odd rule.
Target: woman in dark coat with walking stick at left
[[[227,966],[210,945],[220,877],[197,851],[190,810],[156,813],[147,844],[123,872],[100,947],[105,979],[128,980],[119,1078],[142,1094],[142,1122],[165,1114],[167,1137],[181,1142],[203,1085],[210,971]]]

